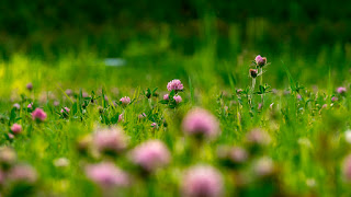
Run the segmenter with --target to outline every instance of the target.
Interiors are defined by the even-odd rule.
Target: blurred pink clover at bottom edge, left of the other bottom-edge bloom
[[[86,174],[91,181],[102,187],[124,187],[129,184],[127,173],[113,163],[102,162],[88,165],[86,167]]]

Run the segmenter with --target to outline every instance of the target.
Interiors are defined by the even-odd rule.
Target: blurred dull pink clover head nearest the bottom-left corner
[[[25,182],[33,184],[36,182],[37,175],[36,171],[31,165],[19,164],[10,170],[9,178],[13,182]]]

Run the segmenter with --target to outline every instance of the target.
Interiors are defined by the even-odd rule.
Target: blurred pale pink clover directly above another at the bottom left
[[[106,153],[120,153],[127,147],[126,137],[120,127],[97,130],[93,144],[100,152]]]

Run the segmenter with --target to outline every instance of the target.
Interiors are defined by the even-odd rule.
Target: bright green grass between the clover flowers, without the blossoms
[[[211,32],[208,34],[212,35]],[[337,45],[321,49],[318,57],[290,51],[249,50],[218,58],[214,47],[216,44],[211,39],[207,46],[199,48],[192,56],[172,50],[167,45],[167,38],[161,39],[155,45],[132,43],[123,54],[127,61],[125,67],[105,67],[102,57],[86,50],[78,55],[65,54],[57,61],[14,54],[9,61],[0,63],[0,142],[14,148],[19,162],[35,167],[39,177],[35,184],[35,195],[103,195],[104,189],[90,182],[83,169],[88,163],[106,159],[80,154],[77,141],[92,134],[100,125],[115,123],[123,112],[125,121],[117,125],[129,137],[129,148],[147,139],[160,139],[171,151],[172,161],[152,176],[143,178],[124,155],[110,159],[135,176],[129,188],[117,192],[122,196],[179,196],[181,173],[197,163],[207,163],[220,170],[226,196],[270,196],[273,193],[350,195],[340,169],[342,159],[350,150],[343,137],[350,126],[350,93],[338,95],[339,101],[330,106],[331,96],[337,95],[333,91],[337,86],[350,88],[350,73],[346,70],[349,57]],[[263,82],[271,89],[278,89],[278,93],[264,95],[262,112],[257,109],[259,95],[253,96],[251,109],[245,96],[239,101],[236,94],[237,89],[251,85],[248,70],[257,54],[268,57],[271,62],[267,66]],[[184,92],[181,93],[183,102],[176,108],[168,108],[158,102],[172,79],[180,79],[184,84]],[[34,85],[32,92],[25,89],[27,82]],[[294,91],[283,94],[285,90],[295,90],[296,82],[305,86],[299,91],[302,100],[296,99]],[[144,96],[147,88],[158,88],[159,97],[147,100]],[[73,90],[76,96],[66,95],[66,89]],[[89,94],[93,91],[99,97],[88,105],[84,114],[80,91]],[[107,102],[102,100],[104,95],[109,96]],[[112,105],[112,101],[118,101],[122,96],[135,100],[125,111]],[[32,101],[47,113],[45,123],[36,124],[31,119],[25,108]],[[54,106],[54,101],[59,101],[59,106]],[[22,105],[15,117],[24,131],[9,140],[7,135],[14,123],[11,118],[14,103]],[[272,108],[269,107],[271,103],[274,103]],[[324,104],[328,106],[321,108]],[[68,118],[57,114],[64,106],[71,109]],[[217,139],[206,141],[197,149],[193,148],[194,142],[190,138],[184,138],[181,128],[182,118],[195,106],[212,112],[220,121],[222,129]],[[102,114],[100,107],[104,108]],[[140,121],[138,115],[141,113],[146,113],[147,118]],[[160,126],[158,129],[151,128],[154,121]],[[224,144],[248,148],[245,136],[253,128],[267,130],[272,140],[240,170],[250,177],[250,182],[239,187],[234,171],[219,162],[216,151]],[[252,175],[254,159],[262,155],[274,161],[278,170],[272,177],[274,181]],[[56,167],[53,162],[58,158],[67,158],[70,165]],[[308,185],[306,182],[315,184]],[[9,189],[10,186],[4,186],[2,193],[9,195]]]

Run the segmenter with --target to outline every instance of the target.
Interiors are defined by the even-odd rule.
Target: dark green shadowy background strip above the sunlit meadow
[[[115,57],[131,42],[152,43],[166,31],[178,53],[192,55],[213,37],[218,57],[227,58],[233,25],[237,51],[278,53],[288,46],[292,53],[317,55],[350,42],[350,21],[351,1],[2,0],[0,55],[53,59],[84,48]]]

